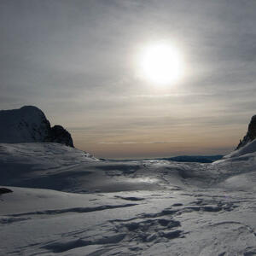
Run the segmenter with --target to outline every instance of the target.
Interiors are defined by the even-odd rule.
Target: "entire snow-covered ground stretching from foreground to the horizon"
[[[256,255],[253,148],[202,164],[0,144],[0,255]]]

